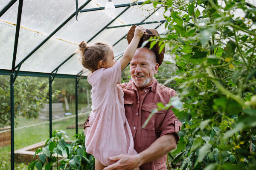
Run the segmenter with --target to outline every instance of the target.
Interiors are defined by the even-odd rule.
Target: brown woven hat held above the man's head
[[[134,37],[134,31],[135,31],[135,28],[136,28],[136,27],[137,27],[136,25],[132,26],[131,29],[129,30],[128,34],[127,34],[127,41],[128,41],[128,44],[131,43],[131,40],[132,40],[132,38]],[[142,43],[143,43],[144,41],[146,41],[146,40],[148,40],[150,37],[154,37],[154,36],[159,37],[159,34],[158,34],[157,30],[155,30],[155,29],[147,29],[146,32],[145,32],[145,34],[144,34],[144,35],[141,37],[141,39],[140,39],[138,48],[141,47],[141,45],[142,45]],[[148,42],[144,47],[145,47],[145,48],[149,48],[149,47],[150,47],[150,44],[151,44],[151,42]],[[157,56],[157,63],[158,63],[159,65],[161,65],[162,62],[163,62],[163,57],[164,57],[164,48],[163,48],[163,51],[162,51],[160,54],[159,54],[159,48],[160,48],[160,47],[158,46],[158,42],[157,42],[157,44],[154,45],[154,47],[151,48],[151,50],[154,51],[154,53],[155,53],[156,56]]]

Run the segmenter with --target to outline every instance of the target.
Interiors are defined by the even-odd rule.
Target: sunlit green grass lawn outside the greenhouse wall
[[[64,106],[65,107],[65,106]],[[71,112],[72,115],[75,115],[75,105],[70,105],[70,111],[65,112]],[[79,105],[79,110],[81,110],[81,107],[86,107],[86,105]],[[86,117],[85,115],[79,116],[79,123],[85,122]],[[27,125],[33,125],[37,123],[47,122],[47,120],[41,120],[39,118],[37,119],[26,119],[26,117],[23,116],[17,116],[15,118],[15,128],[16,127],[23,127]],[[74,140],[73,136],[76,134],[76,129],[67,129],[70,125],[76,125],[76,118],[72,117],[65,120],[60,120],[58,122],[52,123],[52,131],[55,130],[64,130],[67,132],[68,136]],[[79,133],[81,133],[83,129],[79,129]],[[43,124],[43,125],[37,125],[33,127],[27,127],[15,130],[15,136],[14,136],[14,143],[15,143],[15,150],[29,146],[31,144],[35,144],[44,140],[49,139],[49,123]],[[0,148],[0,162],[5,161],[6,165],[8,166],[6,170],[10,169],[10,158],[11,156],[9,153],[11,152],[11,146],[6,146]],[[20,169],[26,168],[27,164],[19,164],[15,163],[15,167],[20,167]],[[0,168],[1,169],[1,168]],[[19,168],[17,168],[19,169]],[[5,169],[3,169],[5,170]]]

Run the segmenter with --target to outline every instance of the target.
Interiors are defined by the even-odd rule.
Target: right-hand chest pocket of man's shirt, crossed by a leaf
[[[155,108],[157,108],[157,105],[154,103],[143,103],[142,104],[142,107],[141,107],[141,116],[142,116],[141,123],[142,123],[142,125],[144,125],[144,123],[148,119],[148,116],[150,116],[151,112]],[[155,113],[143,129],[154,130],[156,132],[160,132],[165,113],[166,113],[165,110],[158,111],[157,113]]]

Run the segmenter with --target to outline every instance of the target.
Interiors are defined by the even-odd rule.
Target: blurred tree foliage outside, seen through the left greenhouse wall
[[[60,91],[52,93],[55,98]],[[49,102],[49,81],[46,78],[18,76],[14,86],[14,113],[27,119],[37,118],[44,103]],[[0,125],[10,125],[10,77],[0,75]]]

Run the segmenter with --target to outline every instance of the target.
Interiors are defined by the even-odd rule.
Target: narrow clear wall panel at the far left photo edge
[[[11,169],[10,76],[0,75],[0,162]],[[4,163],[6,162],[6,163]]]

